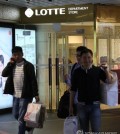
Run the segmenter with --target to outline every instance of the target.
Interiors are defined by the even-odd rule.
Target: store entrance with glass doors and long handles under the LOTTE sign
[[[58,108],[61,96],[69,89],[66,77],[76,62],[76,48],[84,45],[93,52],[95,50],[93,23],[61,24],[59,31],[55,31],[50,24],[43,24],[39,29],[39,93],[47,109],[52,111]]]

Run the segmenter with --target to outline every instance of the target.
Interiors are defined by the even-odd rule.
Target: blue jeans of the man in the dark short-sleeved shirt
[[[101,110],[100,104],[81,104],[77,105],[77,115],[80,123],[80,129],[83,132],[89,132],[89,122],[92,132],[100,132],[101,127]]]

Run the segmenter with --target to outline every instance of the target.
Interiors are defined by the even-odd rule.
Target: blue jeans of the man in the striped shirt
[[[32,99],[13,98],[13,115],[19,122],[18,134],[25,134],[26,124],[24,121],[24,115],[27,111],[28,103],[32,102]]]

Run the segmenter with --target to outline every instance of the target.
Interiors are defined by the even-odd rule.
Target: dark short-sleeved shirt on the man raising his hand
[[[79,102],[100,101],[100,80],[106,81],[106,73],[96,66],[87,71],[82,67],[76,69],[71,79],[71,90],[77,91]]]

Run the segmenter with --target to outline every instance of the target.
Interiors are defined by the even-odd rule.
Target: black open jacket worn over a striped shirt
[[[4,94],[14,94],[14,68],[15,64],[11,64],[9,62],[2,72],[3,77],[8,77],[5,84]],[[35,96],[38,96],[38,85],[35,76],[34,66],[24,59],[24,82],[21,98],[33,98]]]

